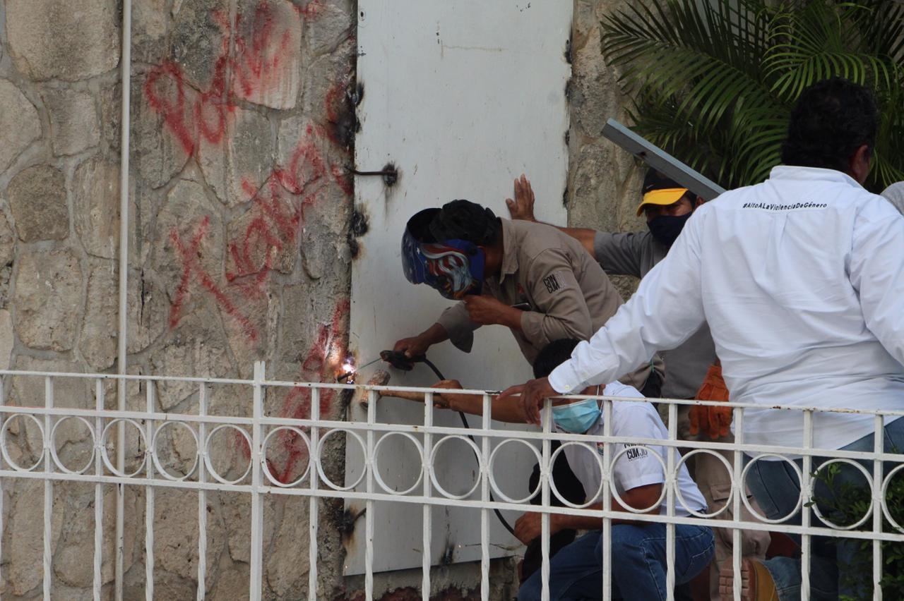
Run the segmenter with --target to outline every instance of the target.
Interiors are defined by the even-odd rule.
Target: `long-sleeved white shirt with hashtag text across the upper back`
[[[560,393],[615,380],[709,323],[731,400],[904,410],[904,218],[841,171],[776,167],[698,208],[604,328],[550,375]],[[801,446],[798,412],[747,410],[748,442]],[[816,448],[870,416],[817,414]]]

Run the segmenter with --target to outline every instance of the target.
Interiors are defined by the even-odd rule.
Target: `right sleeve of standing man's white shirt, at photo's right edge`
[[[867,211],[854,223],[851,283],[860,295],[866,327],[904,364],[904,217],[884,201],[868,217]]]

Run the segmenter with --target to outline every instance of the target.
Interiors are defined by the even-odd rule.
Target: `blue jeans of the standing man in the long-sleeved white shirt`
[[[870,434],[862,439],[853,441],[843,447],[842,450],[871,451],[872,448],[873,435]],[[904,419],[885,424],[884,448],[886,452],[904,452]],[[826,459],[814,458],[813,468],[819,467]],[[744,460],[746,465],[751,458],[745,456]],[[796,459],[795,463],[798,468],[803,466],[802,459]],[[866,467],[867,472],[872,475],[872,462],[862,461],[861,463],[863,467]],[[844,483],[858,487],[866,485],[860,470],[846,464],[835,465],[841,467],[839,475],[833,481],[833,486],[836,489]],[[883,475],[887,475],[897,465],[895,462],[885,462]],[[820,472],[820,474],[823,473],[822,471]],[[800,481],[794,468],[788,465],[786,461],[757,461],[750,468],[747,485],[756,497],[763,513],[772,520],[785,517],[794,511],[797,499],[800,496]],[[833,490],[822,479],[816,480],[814,488],[814,497],[817,500],[817,504],[820,504],[818,503],[820,499],[833,497]],[[805,503],[808,501],[808,499],[804,499]],[[827,517],[832,517],[828,510],[825,510],[823,514]],[[800,525],[800,511],[783,523]],[[813,525],[824,525],[815,513],[811,513],[810,523]],[[868,521],[867,525],[870,523]],[[800,536],[796,534],[790,534],[789,536],[797,543],[800,543]],[[871,598],[871,573],[860,574],[861,578],[858,582],[852,570],[845,571],[845,566],[852,565],[854,554],[860,546],[859,541],[826,537],[812,537],[810,540],[812,541],[810,548],[810,598],[815,600],[834,600],[838,599],[839,596],[850,596],[855,599]],[[800,559],[775,557],[765,561],[764,565],[776,583],[778,598],[781,601],[800,598],[802,579]]]

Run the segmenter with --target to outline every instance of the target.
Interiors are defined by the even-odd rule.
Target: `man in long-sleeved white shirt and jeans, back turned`
[[[535,421],[543,398],[609,382],[654,349],[680,345],[706,321],[731,400],[762,407],[744,412],[748,443],[803,446],[802,413],[770,409],[777,404],[904,410],[904,218],[862,188],[878,119],[870,91],[844,79],[805,90],[789,122],[785,164],[765,182],[694,211],[634,297],[569,362],[502,396],[522,393]],[[904,420],[884,425],[886,451],[899,452]],[[870,415],[816,412],[812,431],[813,447],[826,456],[872,449]],[[747,484],[767,516],[796,513],[794,470],[785,461],[753,467]],[[854,546],[838,541],[828,549],[843,560]],[[812,598],[861,598],[862,585],[852,588],[836,558],[818,550]],[[794,559],[745,560],[743,567],[745,598],[800,598]]]

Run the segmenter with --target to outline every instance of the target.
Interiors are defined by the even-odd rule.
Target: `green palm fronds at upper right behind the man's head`
[[[904,179],[904,4],[899,0],[666,0],[604,17],[639,133],[726,187],[780,160],[791,106],[841,76],[876,91],[883,121],[869,185]]]

